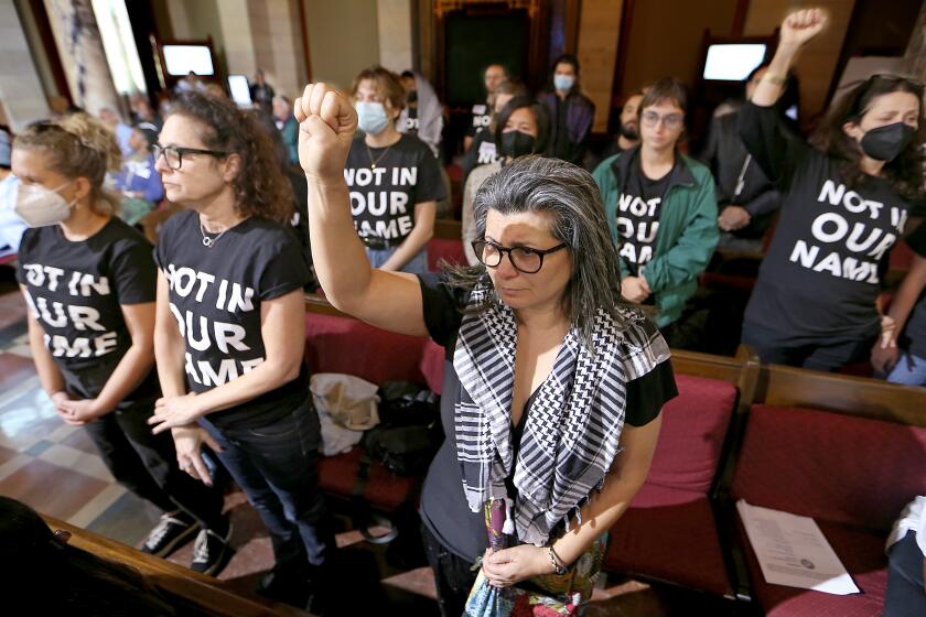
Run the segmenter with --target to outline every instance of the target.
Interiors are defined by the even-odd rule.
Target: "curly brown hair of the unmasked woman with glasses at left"
[[[277,164],[273,144],[252,116],[224,97],[198,91],[179,95],[171,115],[179,113],[203,127],[200,138],[209,150],[237,154],[238,175],[232,182],[235,212],[286,224],[293,213],[292,186]]]

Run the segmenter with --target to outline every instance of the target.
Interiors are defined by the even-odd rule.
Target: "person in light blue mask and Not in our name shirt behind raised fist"
[[[445,195],[438,160],[423,141],[396,130],[406,101],[396,74],[362,71],[351,95],[365,133],[354,138],[344,167],[354,227],[374,268],[424,273],[437,202]]]

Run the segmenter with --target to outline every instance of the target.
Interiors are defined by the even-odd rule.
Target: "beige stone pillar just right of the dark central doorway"
[[[624,0],[584,0],[579,19],[582,89],[595,104],[594,132],[607,130]]]

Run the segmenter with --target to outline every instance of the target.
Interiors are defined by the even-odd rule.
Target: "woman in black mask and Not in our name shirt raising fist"
[[[926,121],[922,85],[872,75],[833,106],[817,148],[782,130],[780,86],[826,22],[818,9],[785,19],[775,57],[739,112],[743,143],[784,194],[743,342],[766,362],[837,370],[866,358],[879,336],[880,266],[923,191]]]

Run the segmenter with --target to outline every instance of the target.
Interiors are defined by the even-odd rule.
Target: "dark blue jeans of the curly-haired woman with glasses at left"
[[[222,446],[218,458],[267,526],[276,570],[310,574],[323,565],[335,543],[319,488],[321,429],[312,400],[259,427],[200,423]]]

